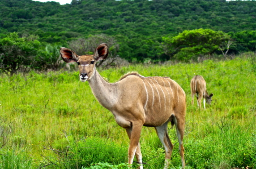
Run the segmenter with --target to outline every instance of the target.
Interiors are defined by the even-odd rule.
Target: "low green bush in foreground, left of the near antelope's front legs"
[[[76,137],[66,137],[58,140],[53,151],[58,152],[57,159],[45,157],[47,163],[41,166],[49,168],[123,168],[127,164],[127,147],[110,142],[100,137],[87,137],[75,140]],[[50,150],[50,149],[48,149]],[[109,164],[111,163],[111,164]],[[136,164],[134,164],[136,166]]]

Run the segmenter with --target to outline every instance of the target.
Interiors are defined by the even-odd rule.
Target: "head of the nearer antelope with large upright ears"
[[[74,51],[65,47],[61,47],[59,52],[62,60],[66,63],[76,62],[78,64],[80,81],[86,82],[93,77],[96,62],[108,57],[108,46],[106,43],[102,43],[96,48],[94,55],[78,56]]]

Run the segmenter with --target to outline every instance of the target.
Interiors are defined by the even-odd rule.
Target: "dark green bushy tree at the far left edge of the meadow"
[[[10,75],[16,74],[20,68],[26,70],[35,63],[39,47],[35,35],[20,38],[15,32],[8,34],[0,39],[0,69]]]

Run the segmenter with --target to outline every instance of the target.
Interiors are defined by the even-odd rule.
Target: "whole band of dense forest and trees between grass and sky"
[[[45,58],[50,56],[44,50],[56,53],[49,52],[49,46],[70,47],[82,54],[102,42],[110,45],[112,56],[135,62],[254,52],[256,46],[255,1],[73,0],[59,5],[0,0],[0,11],[0,39],[10,39],[14,32],[20,38],[33,35],[27,40],[39,41],[41,52],[37,55],[44,53]],[[194,32],[184,33],[187,30]],[[213,37],[221,41],[216,38],[218,42],[210,42]],[[191,39],[200,42],[199,46],[191,45]],[[0,42],[0,47],[6,41]],[[0,48],[1,57],[6,50]]]

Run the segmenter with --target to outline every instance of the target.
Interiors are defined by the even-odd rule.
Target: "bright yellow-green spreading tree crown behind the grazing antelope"
[[[178,60],[210,55],[224,42],[231,40],[228,34],[211,29],[184,30],[175,37],[163,37],[165,52]]]

